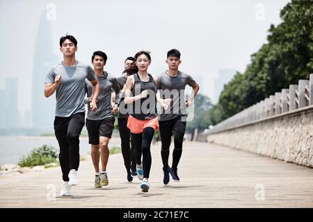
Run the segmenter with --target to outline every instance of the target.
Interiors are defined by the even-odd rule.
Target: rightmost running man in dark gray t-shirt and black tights
[[[168,71],[159,76],[157,85],[161,99],[172,100],[170,106],[166,110],[162,110],[159,118],[164,185],[168,184],[170,176],[175,182],[179,181],[177,166],[182,156],[182,142],[186,130],[186,107],[191,104],[199,90],[198,83],[196,83],[191,76],[178,70],[181,62],[180,53],[177,49],[168,51],[166,60]],[[193,87],[193,92],[187,101],[184,99],[186,85]],[[174,135],[174,150],[172,152],[172,167],[169,167],[168,156],[170,154],[172,135]]]

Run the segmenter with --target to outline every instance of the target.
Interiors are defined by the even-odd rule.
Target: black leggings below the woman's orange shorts
[[[141,164],[141,153],[143,154],[143,177],[149,178],[151,169],[151,152],[150,146],[154,135],[154,128],[147,127],[143,133],[131,133],[134,142],[134,155],[138,165]]]

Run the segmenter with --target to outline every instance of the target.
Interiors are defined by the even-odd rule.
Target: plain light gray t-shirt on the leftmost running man
[[[95,80],[93,68],[76,61],[74,67],[67,67],[64,62],[51,67],[45,83],[54,83],[61,74],[61,83],[56,87],[56,117],[70,117],[78,112],[85,112],[85,79]]]

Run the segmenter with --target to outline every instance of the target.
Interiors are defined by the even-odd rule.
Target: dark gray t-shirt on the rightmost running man
[[[188,74],[178,71],[177,76],[170,76],[163,72],[159,76],[159,83],[157,89],[160,92],[161,99],[172,99],[170,107],[163,110],[160,114],[159,121],[167,121],[175,119],[179,116],[187,116],[185,105],[185,87],[189,85],[193,87],[195,80]]]

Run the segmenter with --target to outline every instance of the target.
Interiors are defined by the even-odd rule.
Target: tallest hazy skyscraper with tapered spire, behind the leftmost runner
[[[52,128],[56,106],[55,94],[46,98],[44,89],[49,67],[58,62],[58,56],[53,53],[50,24],[45,10],[40,17],[33,61],[33,105],[31,110],[33,128]]]

